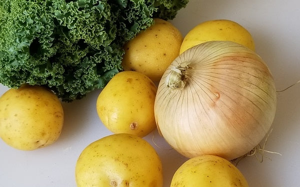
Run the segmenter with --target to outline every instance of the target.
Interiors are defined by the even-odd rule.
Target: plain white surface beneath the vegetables
[[[252,34],[256,52],[271,70],[277,90],[300,80],[300,1],[298,0],[190,0],[171,22],[183,35],[210,19],[231,19]],[[0,85],[0,95],[8,88]],[[91,142],[111,134],[95,110],[100,90],[84,99],[64,103],[65,124],[57,142],[35,151],[18,151],[0,140],[0,187],[75,187],[74,167]],[[247,157],[237,165],[250,187],[300,186],[300,84],[278,92],[277,111],[263,162]],[[155,146],[152,141],[159,146]],[[175,170],[186,160],[157,132],[145,137],[157,150],[169,187]]]

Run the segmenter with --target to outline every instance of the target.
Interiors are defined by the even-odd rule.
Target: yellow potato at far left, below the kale
[[[60,101],[41,86],[22,85],[0,97],[0,137],[19,150],[34,150],[55,142],[63,126]]]

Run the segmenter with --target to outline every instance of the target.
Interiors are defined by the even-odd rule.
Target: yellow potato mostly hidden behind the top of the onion
[[[213,40],[233,41],[255,50],[253,38],[243,26],[231,20],[217,19],[192,28],[183,38],[180,54],[192,46]]]

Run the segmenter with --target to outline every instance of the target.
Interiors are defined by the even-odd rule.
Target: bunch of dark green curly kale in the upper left
[[[0,83],[45,85],[64,101],[122,70],[123,44],[187,0],[0,0]]]

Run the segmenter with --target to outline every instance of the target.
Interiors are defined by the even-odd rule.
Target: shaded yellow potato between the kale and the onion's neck
[[[180,31],[170,22],[155,18],[154,24],[124,45],[122,67],[125,71],[145,74],[158,82],[179,55],[182,42]]]

